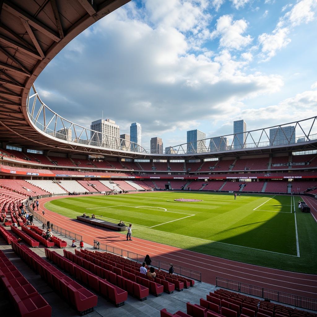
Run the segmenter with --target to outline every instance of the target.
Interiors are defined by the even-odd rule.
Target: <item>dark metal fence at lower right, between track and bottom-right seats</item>
[[[271,301],[277,301],[295,307],[317,310],[316,299],[274,291],[272,289],[231,281],[221,277],[216,277],[216,287],[227,288],[239,293],[267,298]]]

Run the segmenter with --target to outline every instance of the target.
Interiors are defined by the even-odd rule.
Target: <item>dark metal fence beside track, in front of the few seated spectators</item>
[[[97,245],[97,243],[98,243],[98,245]],[[145,258],[144,255],[140,255],[140,254],[137,254],[137,253],[134,253],[131,251],[126,251],[126,250],[119,249],[119,248],[115,248],[112,245],[99,243],[96,240],[94,241],[94,247],[97,247],[98,249],[105,250],[106,252],[113,253],[113,254],[118,255],[118,256],[123,256],[123,257],[129,258],[131,260],[134,260],[134,261],[137,261],[140,263],[142,263],[144,261],[144,258]],[[170,263],[168,263],[168,262],[160,261],[160,260],[157,260],[154,258],[151,258],[151,260],[152,260],[151,265],[156,267],[156,268],[161,268],[161,269],[166,270],[166,271],[168,271],[168,269],[170,268]],[[188,277],[188,278],[191,278],[193,280],[201,282],[201,272],[194,271],[194,270],[191,270],[189,268],[183,268],[181,266],[174,265],[174,264],[173,264],[173,268],[174,268],[175,274],[182,275],[182,276],[185,276],[185,277]]]

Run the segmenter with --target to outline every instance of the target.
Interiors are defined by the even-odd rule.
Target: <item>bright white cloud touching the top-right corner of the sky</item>
[[[285,14],[284,18],[288,19],[293,26],[308,23],[314,20],[315,13],[313,8],[316,6],[316,0],[301,0],[294,5],[292,10]]]

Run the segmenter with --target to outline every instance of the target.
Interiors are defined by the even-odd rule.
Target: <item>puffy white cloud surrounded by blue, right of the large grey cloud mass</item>
[[[219,45],[226,49],[242,49],[252,42],[250,35],[242,36],[248,27],[245,20],[232,20],[232,16],[224,15],[217,20],[216,30],[211,37],[220,37]]]

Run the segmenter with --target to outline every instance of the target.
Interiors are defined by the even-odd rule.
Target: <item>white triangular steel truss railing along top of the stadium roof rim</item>
[[[56,138],[70,144],[80,144],[81,146],[153,155],[151,150],[144,149],[137,143],[87,129],[68,121],[42,102],[34,85],[32,86],[32,89],[34,93],[31,94],[30,92],[27,100],[27,113],[29,119],[34,126],[49,137]],[[39,105],[36,104],[36,101],[39,101]],[[171,155],[168,157],[172,159],[173,154],[217,154],[217,152],[247,150],[259,147],[298,145],[298,143],[312,142],[316,139],[317,116],[282,125],[243,131],[241,133],[227,134],[224,136],[183,143],[177,146],[170,146],[166,148],[164,154]],[[158,153],[160,156],[162,154]]]

